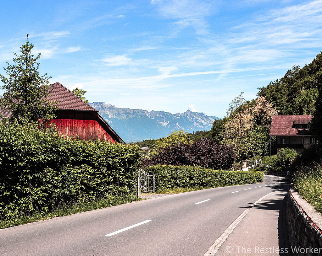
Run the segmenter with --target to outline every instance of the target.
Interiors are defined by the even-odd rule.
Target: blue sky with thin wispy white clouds
[[[28,33],[52,83],[148,111],[222,118],[322,50],[322,1],[5,1],[0,17],[0,67]]]

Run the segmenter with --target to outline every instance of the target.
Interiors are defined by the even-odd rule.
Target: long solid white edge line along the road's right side
[[[256,204],[258,204],[261,200],[265,197],[269,196],[270,194],[274,193],[270,192],[269,194],[263,196],[262,198],[258,199],[255,203],[253,203],[248,209],[246,209],[237,219],[223,232],[223,234],[213,243],[213,245],[209,248],[209,250],[204,254],[204,256],[213,256],[216,254],[220,246],[225,242],[227,237],[232,233],[234,228],[238,225],[238,223],[246,216],[246,214],[253,208]]]

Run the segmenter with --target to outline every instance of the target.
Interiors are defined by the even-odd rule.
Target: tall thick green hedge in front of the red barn
[[[128,195],[141,150],[63,138],[33,124],[0,123],[0,220],[46,213],[108,194]]]

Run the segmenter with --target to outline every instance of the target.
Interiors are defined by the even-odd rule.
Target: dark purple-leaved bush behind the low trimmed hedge
[[[233,149],[214,139],[200,139],[192,143],[178,143],[158,149],[158,154],[145,159],[147,165],[197,165],[212,169],[229,169],[234,160]]]

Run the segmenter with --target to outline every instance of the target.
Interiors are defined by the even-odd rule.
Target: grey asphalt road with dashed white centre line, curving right
[[[287,188],[284,181],[268,184],[198,190],[3,229],[0,255],[202,256],[252,203]]]

